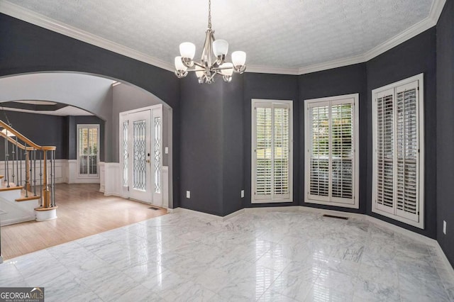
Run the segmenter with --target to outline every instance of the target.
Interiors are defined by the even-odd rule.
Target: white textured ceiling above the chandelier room
[[[427,18],[434,0],[212,0],[212,23],[248,65],[295,68],[362,55]],[[9,0],[172,64],[179,43],[196,44],[206,0]]]

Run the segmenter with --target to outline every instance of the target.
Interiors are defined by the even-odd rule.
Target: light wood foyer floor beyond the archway
[[[104,196],[99,192],[99,184],[57,184],[55,198],[57,219],[1,227],[1,253],[4,259],[167,213],[164,208],[153,210],[145,203]]]

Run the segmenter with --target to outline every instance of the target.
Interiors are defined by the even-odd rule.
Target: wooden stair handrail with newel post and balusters
[[[57,148],[37,145],[1,120],[0,127],[3,128],[0,131],[0,139],[4,139],[3,188],[23,186],[26,198],[35,197],[38,196],[36,190],[39,181],[40,208],[54,208],[56,206],[55,150]]]

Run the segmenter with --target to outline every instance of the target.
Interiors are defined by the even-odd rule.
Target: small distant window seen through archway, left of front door
[[[77,125],[80,177],[98,177],[99,125]]]

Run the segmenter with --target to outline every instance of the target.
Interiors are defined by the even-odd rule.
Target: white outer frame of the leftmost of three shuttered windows
[[[255,105],[265,103],[270,104],[269,108],[275,108],[274,105],[277,104],[277,108],[284,108],[280,106],[288,106],[289,108],[289,197],[288,198],[274,198],[274,199],[255,199],[255,156],[257,153],[255,152],[255,138],[256,138],[256,125],[255,125]],[[250,186],[250,202],[251,203],[291,203],[293,202],[293,147],[294,147],[294,138],[293,138],[293,101],[292,100],[274,100],[274,99],[251,99],[251,149],[250,149],[250,179],[251,179],[251,186]],[[268,107],[267,107],[268,108]],[[272,112],[273,116],[273,125],[274,128],[274,111]],[[273,192],[271,194],[271,198],[273,196]]]

